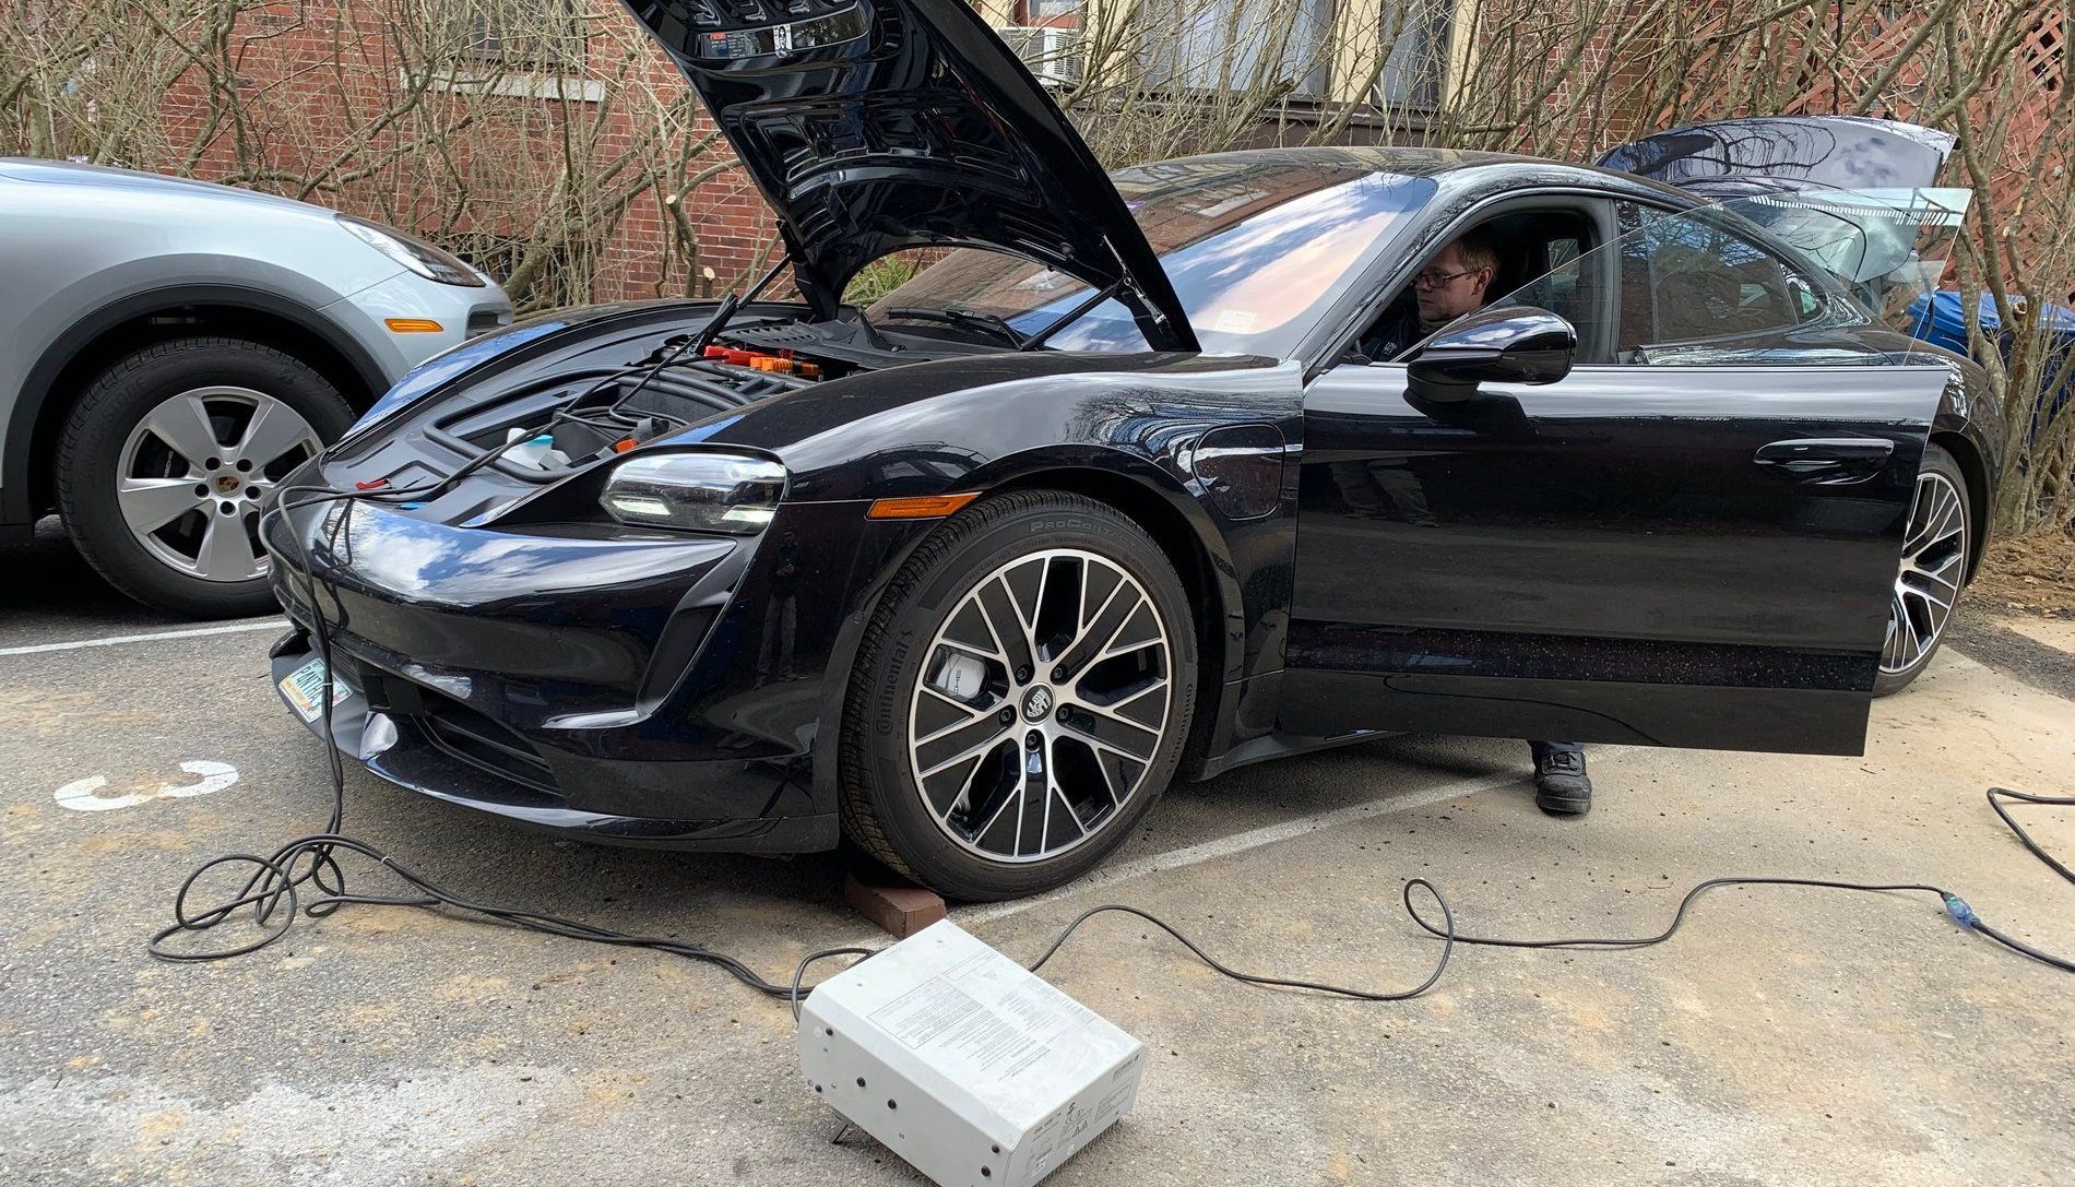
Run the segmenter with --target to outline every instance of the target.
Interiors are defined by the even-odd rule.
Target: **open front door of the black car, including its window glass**
[[[1307,390],[1284,733],[1863,747],[1955,363],[1737,203],[1614,205],[1614,243]],[[1550,307],[1610,355],[1440,382]]]

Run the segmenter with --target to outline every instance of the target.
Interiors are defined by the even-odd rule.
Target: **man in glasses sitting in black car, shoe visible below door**
[[[1361,336],[1361,353],[1390,361],[1411,351],[1436,330],[1482,309],[1498,274],[1498,249],[1482,230],[1467,230],[1442,247],[1417,276],[1413,301],[1392,301]],[[1552,816],[1581,816],[1592,809],[1592,776],[1579,743],[1529,741],[1536,760],[1536,805]]]

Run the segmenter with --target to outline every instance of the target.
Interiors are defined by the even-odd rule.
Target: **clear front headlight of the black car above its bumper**
[[[606,475],[598,504],[631,527],[691,527],[755,535],[784,496],[784,467],[759,457],[658,452]]]

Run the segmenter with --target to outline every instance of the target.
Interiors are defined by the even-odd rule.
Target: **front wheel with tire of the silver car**
[[[338,388],[293,355],[158,342],[102,371],[64,419],[58,513],[79,554],[145,606],[264,614],[259,502],[351,423]]]

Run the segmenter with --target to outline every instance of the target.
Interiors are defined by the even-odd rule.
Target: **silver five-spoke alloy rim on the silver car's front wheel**
[[[324,442],[286,403],[253,388],[193,388],[145,415],[116,469],[131,535],[164,564],[205,581],[268,571],[259,506]]]

